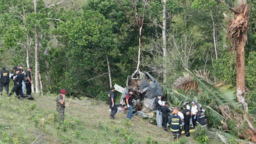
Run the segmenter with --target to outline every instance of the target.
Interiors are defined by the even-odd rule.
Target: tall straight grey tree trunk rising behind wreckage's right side
[[[166,83],[167,81],[167,65],[166,65],[166,57],[167,57],[167,45],[166,45],[166,1],[163,0],[163,29],[162,29],[162,36],[163,36],[163,56],[164,56],[164,73],[163,73],[163,82]]]

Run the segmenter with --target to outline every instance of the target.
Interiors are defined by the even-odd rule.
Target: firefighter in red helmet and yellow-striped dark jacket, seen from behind
[[[168,126],[170,126],[170,130],[174,135],[174,140],[176,140],[177,135],[179,135],[179,130],[181,129],[181,126],[182,126],[181,117],[178,116],[178,113],[179,113],[178,109],[175,108],[167,124]]]

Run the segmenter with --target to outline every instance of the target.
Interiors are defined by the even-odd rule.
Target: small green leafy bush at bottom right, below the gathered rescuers
[[[195,140],[198,141],[198,143],[207,144],[209,141],[209,138],[206,135],[206,133],[207,133],[207,129],[199,125],[196,127],[195,133],[193,135],[195,137]]]

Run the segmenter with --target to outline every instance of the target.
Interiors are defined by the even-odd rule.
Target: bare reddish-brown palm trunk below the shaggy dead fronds
[[[244,35],[247,35],[244,33]],[[248,112],[248,106],[245,102],[245,59],[244,59],[244,47],[246,44],[245,39],[240,39],[238,46],[236,47],[236,98],[237,101],[242,103],[246,112]]]

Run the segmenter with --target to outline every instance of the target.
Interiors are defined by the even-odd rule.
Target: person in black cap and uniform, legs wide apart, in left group
[[[8,97],[10,97],[14,92],[16,92],[16,95],[19,97],[21,96],[22,98],[24,97],[24,94],[22,93],[22,81],[24,80],[24,76],[23,74],[20,73],[19,69],[15,70],[15,85],[11,91],[11,93],[8,95]]]

